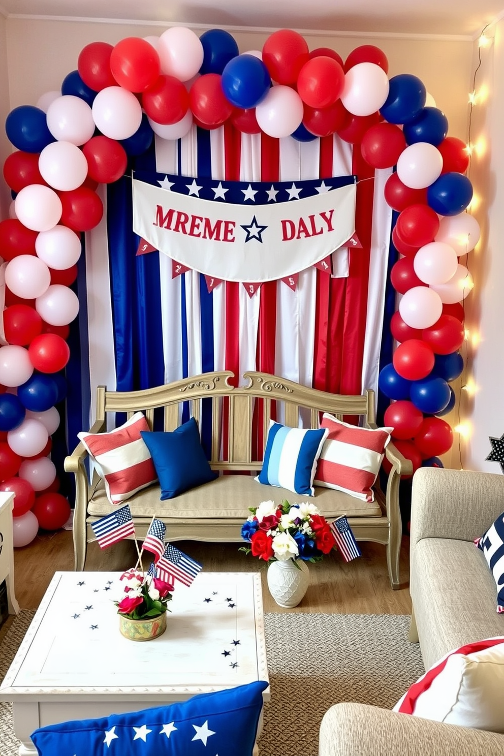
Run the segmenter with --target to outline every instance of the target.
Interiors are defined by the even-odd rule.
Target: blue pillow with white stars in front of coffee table
[[[39,756],[252,756],[266,682],[159,708],[40,727]]]

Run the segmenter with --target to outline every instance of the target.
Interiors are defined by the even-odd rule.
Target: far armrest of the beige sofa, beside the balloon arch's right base
[[[422,538],[474,541],[504,510],[504,476],[421,467],[413,476],[411,547]]]

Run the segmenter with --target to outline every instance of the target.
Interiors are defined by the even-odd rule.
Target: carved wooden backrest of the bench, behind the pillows
[[[261,467],[261,459],[252,448],[252,438],[262,438],[264,448],[270,419],[297,427],[318,428],[321,412],[339,419],[362,417],[374,421],[374,392],[350,396],[310,389],[268,373],[244,373],[246,386],[233,386],[233,373],[203,373],[166,386],[134,392],[107,392],[97,389],[97,420],[109,412],[125,413],[127,417],[143,411],[150,428],[159,426],[155,414],[162,413],[159,429],[173,431],[181,424],[182,407],[189,402],[190,415],[200,425],[202,403],[211,403],[208,415],[212,423],[211,464],[214,469],[253,470]],[[206,415],[207,417],[207,415]]]

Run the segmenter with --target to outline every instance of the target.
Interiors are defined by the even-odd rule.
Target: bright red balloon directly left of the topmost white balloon
[[[110,53],[110,70],[120,87],[143,92],[159,76],[159,55],[145,39],[126,37]]]

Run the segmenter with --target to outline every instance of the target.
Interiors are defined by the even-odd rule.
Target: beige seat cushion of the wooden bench
[[[283,499],[290,503],[311,501],[317,504],[324,517],[379,517],[382,514],[379,503],[367,502],[333,491],[331,488],[315,487],[314,496],[300,496],[287,491],[286,488],[274,488],[256,482],[251,475],[222,475],[210,483],[192,488],[180,496],[168,501],[159,500],[159,485],[144,488],[131,497],[128,504],[131,515],[135,517],[153,517],[162,519],[237,519],[240,524],[249,516],[248,507],[257,507],[261,501]],[[91,516],[103,516],[110,512],[103,484],[100,482],[94,491],[88,506]]]

